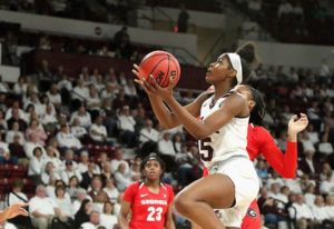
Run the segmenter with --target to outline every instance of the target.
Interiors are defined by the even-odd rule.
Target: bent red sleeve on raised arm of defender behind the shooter
[[[261,152],[268,163],[284,178],[295,178],[297,168],[297,143],[286,142],[285,153],[276,146],[272,135],[263,129]]]

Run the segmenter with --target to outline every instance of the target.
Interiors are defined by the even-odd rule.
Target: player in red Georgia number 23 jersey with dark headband
[[[175,229],[173,220],[173,188],[160,180],[165,163],[148,156],[140,165],[143,182],[131,183],[124,193],[118,221],[122,229]],[[131,211],[130,221],[128,216]]]

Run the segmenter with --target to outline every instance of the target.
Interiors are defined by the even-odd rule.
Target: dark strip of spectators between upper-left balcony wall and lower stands
[[[20,56],[17,51],[19,46],[43,51],[130,59],[134,62],[139,62],[149,51],[159,49],[154,46],[147,47],[132,43],[127,27],[121,27],[115,33],[112,39],[90,40],[23,32],[19,29],[14,30],[12,28],[7,28],[7,24],[8,23],[0,22],[0,28],[3,26],[3,31],[0,32],[0,42],[2,42],[2,63],[7,66],[20,64]],[[59,71],[61,72],[63,70],[59,69]],[[48,74],[48,72],[45,73]]]

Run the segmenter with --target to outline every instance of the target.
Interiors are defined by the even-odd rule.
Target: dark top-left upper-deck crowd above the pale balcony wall
[[[134,0],[13,0],[0,1],[0,9],[115,24],[129,24],[134,16],[132,10],[143,3],[145,2]]]

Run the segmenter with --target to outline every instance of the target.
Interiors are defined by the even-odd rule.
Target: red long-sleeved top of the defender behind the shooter
[[[268,163],[284,178],[294,178],[297,168],[297,143],[286,142],[285,153],[276,146],[272,135],[263,127],[248,125],[247,152],[250,160],[263,155]],[[204,168],[203,176],[207,175]]]

